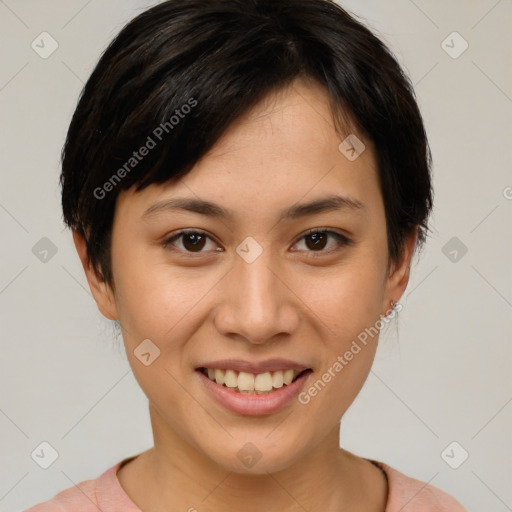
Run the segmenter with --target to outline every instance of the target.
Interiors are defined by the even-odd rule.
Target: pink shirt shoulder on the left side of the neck
[[[117,471],[124,462],[118,462],[98,478],[84,480],[24,512],[98,512],[115,509],[141,512],[126,495],[117,479]]]

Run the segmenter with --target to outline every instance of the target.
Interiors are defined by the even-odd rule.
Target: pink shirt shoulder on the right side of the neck
[[[388,479],[386,512],[467,512],[441,489],[404,475],[383,462],[371,462],[380,467]]]

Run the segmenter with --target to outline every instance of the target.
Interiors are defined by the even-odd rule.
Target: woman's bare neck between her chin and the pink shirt
[[[339,448],[339,425],[286,469],[254,475],[219,466],[166,428],[152,407],[150,413],[154,447],[118,473],[121,485],[143,510],[165,510],[162,503],[170,505],[168,510],[190,512],[385,508],[385,487],[376,492],[378,484],[383,485],[382,475],[376,479],[380,470]]]

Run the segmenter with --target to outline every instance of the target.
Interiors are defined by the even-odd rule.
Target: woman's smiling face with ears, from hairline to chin
[[[358,136],[348,159],[345,136],[323,89],[296,81],[181,180],[119,196],[115,291],[87,272],[121,324],[155,446],[277,471],[314,453],[361,389],[378,338],[362,333],[400,298],[415,240],[388,266],[375,155]]]

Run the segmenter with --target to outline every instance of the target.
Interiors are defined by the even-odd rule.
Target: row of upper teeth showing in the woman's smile
[[[275,372],[253,374],[208,368],[205,373],[207,373],[210,380],[221,386],[226,386],[240,393],[261,395],[290,385],[300,372],[296,370],[277,370]]]

